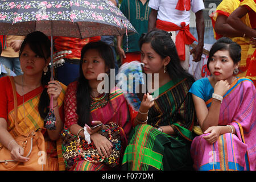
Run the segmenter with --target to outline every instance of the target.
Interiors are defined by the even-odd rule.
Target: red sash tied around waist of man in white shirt
[[[185,44],[190,45],[196,38],[189,32],[189,24],[185,26],[185,22],[180,23],[181,27],[177,26],[175,23],[166,22],[163,20],[156,20],[156,28],[164,31],[177,31],[179,33],[176,35],[176,49],[181,61],[185,60]]]

